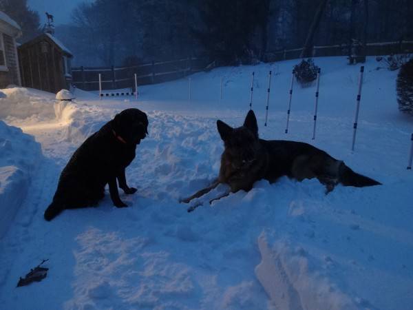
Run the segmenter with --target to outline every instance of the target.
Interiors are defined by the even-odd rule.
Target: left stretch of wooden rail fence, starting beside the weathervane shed
[[[178,59],[131,65],[129,67],[72,68],[72,84],[82,90],[99,90],[99,74],[102,90],[132,88],[135,90],[134,76],[139,85],[162,83],[180,79],[205,68],[207,60],[198,58]]]

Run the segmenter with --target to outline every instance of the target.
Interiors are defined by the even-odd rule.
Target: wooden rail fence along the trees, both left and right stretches
[[[277,50],[266,53],[266,61],[283,61],[298,59],[302,48]],[[347,44],[314,46],[313,57],[317,56],[347,56]],[[366,55],[379,56],[399,53],[413,53],[413,41],[367,43]],[[178,59],[175,61],[152,61],[130,67],[78,67],[72,68],[72,84],[82,90],[98,90],[99,74],[102,75],[102,90],[132,88],[134,90],[134,74],[137,75],[138,85],[162,83],[181,79],[193,72],[204,70],[209,61],[200,58]],[[135,91],[135,90],[134,90]]]

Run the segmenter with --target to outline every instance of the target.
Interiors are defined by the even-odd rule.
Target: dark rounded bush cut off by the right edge
[[[399,110],[413,115],[413,59],[401,66],[396,89]]]

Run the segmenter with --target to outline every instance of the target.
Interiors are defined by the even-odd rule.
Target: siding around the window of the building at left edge
[[[19,68],[14,40],[7,34],[0,35],[3,36],[6,66],[8,68],[8,71],[0,72],[0,88],[5,88],[9,84],[21,85],[19,81]]]

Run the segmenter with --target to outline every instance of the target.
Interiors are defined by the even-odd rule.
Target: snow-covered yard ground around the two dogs
[[[35,170],[0,239],[1,309],[413,309],[413,173],[405,169],[413,119],[397,110],[396,72],[376,70],[368,59],[350,152],[359,67],[344,57],[315,59],[322,76],[312,141],[314,86],[295,87],[284,134],[295,63],[194,74],[191,101],[186,79],[142,86],[138,102],[99,101],[76,90],[74,102],[55,103],[54,94],[3,90],[0,118],[32,134],[43,156],[23,156]],[[268,70],[274,76],[264,127]],[[218,175],[223,146],[215,121],[242,125],[253,71],[262,138],[313,143],[383,185],[338,186],[325,195],[317,180],[260,180],[248,193],[187,213],[178,199]],[[121,196],[130,207],[116,209],[107,194],[97,208],[65,210],[45,222],[71,154],[127,107],[149,116],[149,136],[127,168],[138,192]],[[35,149],[0,122],[0,147],[8,141],[28,145],[28,154]],[[0,150],[0,169],[15,165],[8,162],[15,153]],[[43,259],[47,278],[16,288]]]

